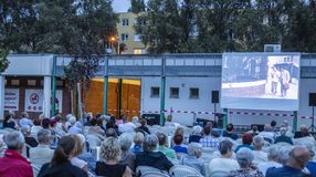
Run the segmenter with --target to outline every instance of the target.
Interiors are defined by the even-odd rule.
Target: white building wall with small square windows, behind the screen
[[[220,91],[220,77],[167,77],[166,82],[166,110],[172,107],[173,111],[201,111],[213,112],[211,103],[211,92]],[[160,87],[160,77],[141,77],[141,110],[143,111],[159,111],[160,97],[150,97],[150,87]],[[179,98],[170,98],[170,87],[179,87]],[[189,98],[190,87],[200,88],[199,100]],[[299,91],[299,111],[298,111],[298,127],[301,124],[310,126],[310,119],[303,119],[301,116],[312,116],[312,107],[308,106],[308,95],[310,92],[316,93],[316,79],[302,79]],[[222,112],[220,105],[217,106],[218,112]],[[230,110],[238,112],[238,110]],[[239,110],[240,111],[240,110]],[[292,112],[270,112],[270,111],[240,111],[251,113],[280,113],[293,114]],[[316,107],[315,107],[316,113]],[[169,113],[166,113],[168,115]],[[191,113],[173,113],[173,121],[192,125],[193,114]],[[197,117],[213,119],[213,115],[198,114]],[[275,119],[277,124],[282,124],[284,119],[292,123],[292,117],[284,116],[264,116],[264,115],[229,115],[229,123],[238,125],[265,124]]]

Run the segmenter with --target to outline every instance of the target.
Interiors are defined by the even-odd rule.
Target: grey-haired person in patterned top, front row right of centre
[[[252,164],[253,154],[249,148],[242,148],[236,153],[240,169],[232,170],[230,177],[263,177],[263,174]]]

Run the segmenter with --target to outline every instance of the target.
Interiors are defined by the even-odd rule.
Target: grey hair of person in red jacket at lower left
[[[8,146],[9,149],[18,150],[24,146],[24,136],[21,132],[14,131],[9,134],[6,134],[3,137],[3,142]]]

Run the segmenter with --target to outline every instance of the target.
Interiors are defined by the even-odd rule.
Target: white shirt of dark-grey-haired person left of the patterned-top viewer
[[[209,165],[209,176],[223,177],[229,176],[231,170],[238,170],[240,166],[236,160],[230,158],[214,158]]]

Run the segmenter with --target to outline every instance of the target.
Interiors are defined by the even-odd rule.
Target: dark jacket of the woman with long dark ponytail
[[[50,163],[44,164],[38,175],[38,177],[87,177],[87,174],[75,167],[71,162],[54,165],[50,167]]]

